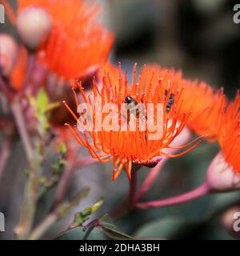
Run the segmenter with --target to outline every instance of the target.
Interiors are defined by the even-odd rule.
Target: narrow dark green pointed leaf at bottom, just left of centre
[[[106,231],[106,235],[110,235],[115,238],[133,239],[130,237],[130,235],[125,234],[122,232],[122,230],[115,226],[108,214],[105,214],[102,218],[100,218],[99,223],[102,225],[103,230]]]

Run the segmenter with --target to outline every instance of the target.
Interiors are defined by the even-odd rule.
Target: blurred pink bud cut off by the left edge
[[[8,34],[0,34],[0,66],[3,76],[8,76],[14,66],[18,46]]]

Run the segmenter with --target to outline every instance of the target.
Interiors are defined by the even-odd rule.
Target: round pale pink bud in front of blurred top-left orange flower
[[[29,50],[36,50],[50,35],[50,15],[42,8],[27,7],[18,14],[17,29],[26,47]]]

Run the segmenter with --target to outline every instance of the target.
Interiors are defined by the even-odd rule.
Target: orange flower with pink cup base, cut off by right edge
[[[240,189],[240,96],[227,106],[222,114],[218,132],[220,152],[206,173],[206,185],[211,192]]]

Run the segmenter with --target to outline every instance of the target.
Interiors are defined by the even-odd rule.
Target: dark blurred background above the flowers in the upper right
[[[233,22],[238,1],[110,2],[117,59],[173,66],[234,96],[240,82],[240,26]]]

